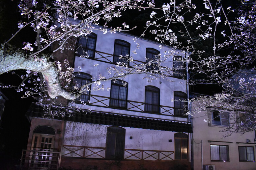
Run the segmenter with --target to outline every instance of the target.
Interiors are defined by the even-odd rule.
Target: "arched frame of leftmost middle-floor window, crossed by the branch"
[[[92,82],[92,75],[90,75],[90,74],[83,73],[83,72],[74,72],[73,74],[74,74],[74,81],[76,81],[76,79],[80,79],[81,82],[82,82],[83,80],[86,81],[86,83],[85,83],[85,84],[81,84],[81,86],[86,85],[87,83],[91,83],[91,82]],[[77,75],[81,75],[81,77],[79,77],[79,76],[77,76]],[[90,78],[83,78],[83,77],[82,77],[83,75],[84,75],[84,76],[88,76],[88,77],[90,77]],[[76,82],[77,82],[77,81],[76,81]],[[75,103],[82,104],[82,102],[79,101],[79,100],[82,100],[82,98],[85,98],[85,100],[86,100],[86,98],[88,98],[87,101],[85,101],[85,100],[82,100],[82,101],[84,101],[84,103],[89,104],[90,96],[91,96],[91,85],[89,85],[89,89],[90,89],[89,91],[85,90],[85,92],[84,92],[83,94],[81,94],[81,95],[76,99]]]

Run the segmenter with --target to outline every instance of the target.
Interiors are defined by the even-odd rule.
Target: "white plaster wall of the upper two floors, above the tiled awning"
[[[164,55],[164,50],[171,50],[170,47],[164,46],[163,49],[159,49],[159,43],[145,40],[145,39],[138,39],[136,42],[134,42],[133,38],[134,36],[124,33],[106,33],[103,34],[101,31],[94,31],[94,33],[97,34],[97,43],[96,43],[96,51],[104,52],[104,53],[110,53],[113,54],[114,52],[114,42],[115,39],[121,39],[125,40],[130,43],[130,54],[133,56],[134,59],[139,61],[145,61],[146,56],[146,48],[154,48],[156,50],[159,50],[162,56]],[[137,44],[140,44],[140,48],[136,50],[136,55],[132,54],[132,50],[135,50],[137,47]],[[103,55],[103,54],[102,54]],[[184,57],[184,54],[180,52],[180,55]],[[99,57],[99,54],[96,53],[95,58]],[[110,61],[113,61],[113,57],[109,57]],[[166,65],[169,67],[172,67],[172,58],[170,57],[168,59],[171,62],[167,62]],[[94,67],[94,64],[99,64],[98,67]],[[93,76],[93,81],[96,80],[96,78],[99,77],[99,73],[102,75],[109,77],[107,74],[106,68],[109,66],[112,66],[113,64],[105,63],[101,61],[96,61],[88,58],[81,58],[81,57],[75,57],[75,63],[74,68],[75,72],[77,72],[79,69],[78,67],[81,67],[81,72],[90,74]],[[115,65],[113,65],[115,66]],[[157,80],[152,81],[149,83],[147,79],[143,79],[145,77],[145,74],[134,74],[132,76],[128,76],[125,81],[128,82],[128,100],[131,101],[138,101],[138,102],[144,102],[145,101],[145,86],[151,85],[155,86],[160,89],[160,105],[163,106],[169,106],[173,107],[174,102],[171,101],[171,99],[174,98],[173,92],[174,91],[182,91],[186,93],[186,84],[185,80],[169,77],[169,79],[172,80],[166,81],[162,78],[159,78]],[[161,83],[159,83],[161,82]],[[107,87],[111,87],[111,81],[103,82],[105,89]],[[93,88],[94,85],[92,85]],[[110,91],[104,90],[104,91],[92,91],[91,95],[98,95],[98,96],[106,96],[110,97]],[[102,98],[104,99],[104,98]],[[91,97],[91,103],[96,102],[96,99],[93,99]],[[103,103],[109,104],[109,100],[105,100]],[[104,104],[98,102],[96,105],[105,106]],[[131,105],[128,105],[128,108],[131,107]],[[176,121],[187,121],[187,118],[184,117],[173,117],[173,116],[162,116],[162,115],[154,115],[154,114],[145,114],[145,113],[138,113],[138,112],[130,112],[130,111],[124,111],[124,110],[118,110],[118,109],[111,109],[111,108],[101,108],[97,106],[85,106],[85,109],[89,108],[94,111],[100,111],[100,112],[112,112],[112,113],[119,113],[119,114],[127,114],[127,115],[137,115],[137,116],[145,116],[145,117],[154,117],[154,118],[162,118],[162,119],[170,119],[170,120],[176,120]],[[140,106],[142,110],[144,110],[144,105]],[[139,109],[137,109],[139,110]],[[171,111],[173,113],[173,111]],[[166,114],[168,114],[166,112]]]

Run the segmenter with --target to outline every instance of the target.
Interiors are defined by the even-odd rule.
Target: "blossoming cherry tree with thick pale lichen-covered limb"
[[[234,2],[237,6],[229,6]],[[204,100],[207,102],[199,110],[207,107],[240,110],[243,113],[241,115],[245,115],[243,122],[248,122],[244,127],[250,125],[251,128],[235,126],[237,121],[242,120],[235,117],[236,124],[227,130],[245,132],[255,129],[254,1],[166,0],[159,4],[153,0],[21,0],[18,8],[22,16],[22,20],[17,23],[18,30],[1,44],[0,49],[0,74],[18,69],[27,70],[21,76],[21,84],[15,87],[17,91],[24,90],[27,96],[36,93],[45,96],[44,92],[47,92],[50,98],[63,96],[73,100],[92,83],[98,84],[96,90],[101,90],[103,86],[99,82],[133,74],[145,74],[149,81],[158,77],[167,79],[175,69],[186,68],[155,67],[154,70],[147,70],[146,66],[153,62],[160,66],[167,61],[166,58],[177,55],[176,49],[181,49],[182,53],[187,54],[181,60],[188,63],[187,69],[204,76],[203,79],[191,78],[187,82],[189,85],[211,87],[215,84],[223,89],[211,97],[201,97],[207,99]],[[126,22],[120,23],[120,26],[109,25],[128,10],[145,10],[149,15],[150,20],[142,25],[145,30],[141,37],[147,38],[151,34],[162,44],[160,48],[167,45],[173,50],[132,68],[127,64],[133,59],[132,56],[120,56],[127,62],[108,68],[108,72],[113,73],[111,77],[99,77],[74,90],[75,86],[71,83],[72,68],[67,62],[65,64],[64,59],[63,63],[54,61],[53,53],[73,50],[72,44],[75,43],[71,42],[76,37],[86,37],[95,30],[95,25],[103,26],[103,33],[132,30],[135,25],[129,27]],[[15,36],[25,29],[34,32],[34,39],[23,42],[20,48],[13,46]],[[27,82],[33,84],[32,88],[26,86]],[[1,84],[1,87],[14,86]],[[196,114],[196,111],[188,111],[188,114]]]

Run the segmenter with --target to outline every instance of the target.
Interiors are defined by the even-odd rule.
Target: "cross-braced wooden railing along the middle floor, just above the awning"
[[[90,105],[109,107],[110,97],[90,95],[90,100],[91,100],[91,102],[89,103]],[[120,109],[136,111],[136,112],[145,112],[145,103],[139,102],[139,101],[127,100],[127,108],[120,108]],[[159,113],[157,112],[148,112],[148,113],[173,116],[174,115],[173,109],[174,107],[159,105]]]

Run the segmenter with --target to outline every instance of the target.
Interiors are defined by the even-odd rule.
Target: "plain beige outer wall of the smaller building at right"
[[[209,112],[210,113],[210,112]],[[255,170],[256,162],[240,162],[238,146],[253,146],[254,157],[256,156],[255,144],[237,144],[237,142],[246,142],[250,139],[251,143],[255,138],[254,132],[248,132],[244,135],[233,133],[231,136],[223,138],[225,130],[222,126],[209,126],[204,122],[208,118],[208,112],[201,111],[192,117],[193,122],[193,154],[194,154],[194,169],[202,170],[201,157],[201,140],[203,142],[203,164],[215,165],[216,170]],[[208,142],[225,141],[225,142]],[[232,143],[226,143],[232,142]],[[229,162],[211,161],[210,145],[228,145],[229,146]]]

